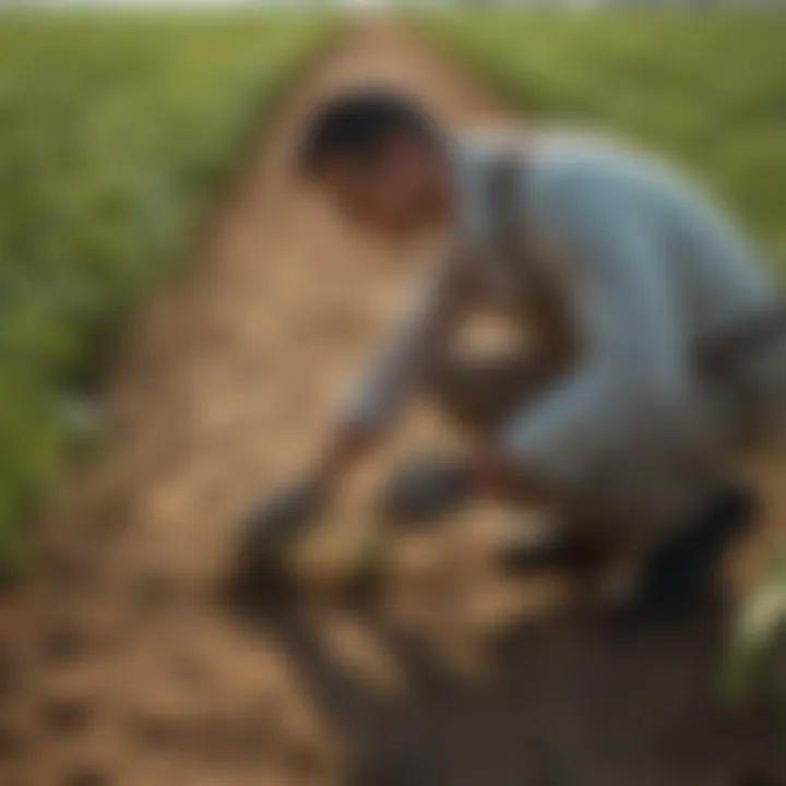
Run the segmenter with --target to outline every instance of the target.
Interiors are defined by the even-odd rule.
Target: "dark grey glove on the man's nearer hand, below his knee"
[[[382,491],[383,517],[396,524],[431,522],[469,498],[465,461],[428,455],[410,460],[391,475]]]

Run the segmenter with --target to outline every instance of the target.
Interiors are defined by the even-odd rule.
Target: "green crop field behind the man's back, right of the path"
[[[525,112],[620,131],[676,157],[786,258],[786,14],[498,11],[425,22]]]

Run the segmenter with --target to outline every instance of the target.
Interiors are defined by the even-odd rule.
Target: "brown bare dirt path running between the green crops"
[[[41,579],[7,610],[0,784],[741,785],[739,750],[784,777],[766,727],[711,707],[712,615],[623,640],[564,614],[516,623],[562,587],[492,579],[489,516],[404,539],[385,600],[347,609],[329,586],[372,524],[360,483],[299,556],[301,603],[253,623],[221,606],[237,516],[313,448],[408,276],[290,177],[300,121],[347,80],[413,91],[454,122],[500,111],[378,23],[282,107],[188,275],[132,327],[111,443],[70,479]],[[404,444],[440,430],[415,421]]]

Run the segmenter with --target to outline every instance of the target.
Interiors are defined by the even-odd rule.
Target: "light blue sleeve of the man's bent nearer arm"
[[[683,403],[689,377],[655,223],[604,183],[573,184],[557,196],[548,213],[557,217],[569,267],[579,359],[514,414],[499,441],[534,479],[559,488],[581,483],[621,444],[657,430]]]

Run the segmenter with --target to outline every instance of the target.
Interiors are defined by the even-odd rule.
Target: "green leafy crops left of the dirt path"
[[[309,16],[0,16],[0,557],[84,426],[119,318],[171,270]]]

